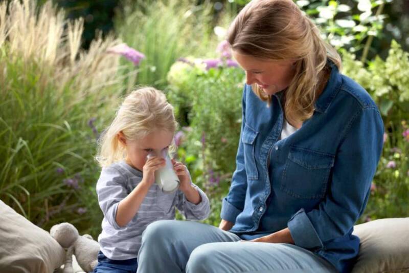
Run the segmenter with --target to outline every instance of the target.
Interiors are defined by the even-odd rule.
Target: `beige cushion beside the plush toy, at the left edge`
[[[0,200],[0,272],[53,272],[64,249],[48,232]]]

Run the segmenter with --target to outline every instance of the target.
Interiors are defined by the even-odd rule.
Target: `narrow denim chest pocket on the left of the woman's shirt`
[[[244,125],[242,142],[244,146],[244,166],[246,170],[247,179],[257,180],[259,174],[256,166],[256,157],[254,152],[255,140],[259,132],[255,131],[253,128],[249,127],[247,124]]]

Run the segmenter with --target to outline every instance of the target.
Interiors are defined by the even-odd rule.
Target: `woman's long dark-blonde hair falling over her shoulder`
[[[228,41],[233,50],[258,59],[296,60],[284,93],[284,112],[290,123],[312,116],[316,92],[323,88],[328,73],[327,58],[338,69],[342,65],[336,50],[292,0],[253,0],[234,19]],[[261,100],[271,102],[257,85],[252,89]]]

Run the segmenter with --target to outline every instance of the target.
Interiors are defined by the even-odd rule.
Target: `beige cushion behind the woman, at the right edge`
[[[356,225],[354,235],[361,243],[352,273],[409,272],[409,218]]]

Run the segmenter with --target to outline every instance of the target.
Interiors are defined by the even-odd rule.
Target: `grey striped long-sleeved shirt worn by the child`
[[[97,183],[97,194],[104,219],[98,242],[102,253],[109,259],[137,258],[142,232],[154,221],[175,219],[175,207],[188,220],[203,220],[209,216],[209,199],[196,185],[193,184],[201,196],[201,202],[197,205],[189,202],[180,190],[166,194],[154,183],[149,188],[138,213],[126,226],[120,227],[115,220],[118,204],[141,180],[142,172],[124,161],[102,169]]]

